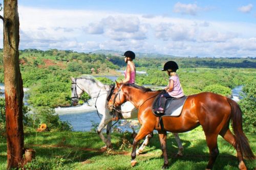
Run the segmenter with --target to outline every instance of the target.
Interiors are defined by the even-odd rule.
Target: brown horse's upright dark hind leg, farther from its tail
[[[207,142],[209,152],[210,152],[210,159],[206,166],[206,169],[212,169],[212,167],[214,166],[214,163],[216,161],[216,158],[219,155],[217,137],[218,137],[218,134],[206,135],[206,142]]]

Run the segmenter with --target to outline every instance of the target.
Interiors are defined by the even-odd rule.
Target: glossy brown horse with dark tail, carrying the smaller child
[[[125,101],[130,101],[139,109],[138,120],[141,128],[133,141],[132,166],[137,163],[135,160],[137,143],[154,129],[159,134],[164,158],[163,168],[165,168],[168,165],[166,131],[182,133],[201,125],[210,152],[210,159],[206,169],[212,169],[219,154],[217,145],[218,135],[221,135],[237,150],[239,169],[247,169],[243,157],[250,160],[255,157],[249,146],[248,139],[242,130],[242,111],[236,102],[211,92],[189,95],[181,115],[179,117],[162,117],[163,127],[161,127],[161,124],[159,126],[159,117],[155,116],[152,112],[152,104],[156,96],[161,92],[152,91],[143,86],[116,83],[111,100],[108,103],[108,107],[113,109]],[[230,120],[234,135],[229,129]]]

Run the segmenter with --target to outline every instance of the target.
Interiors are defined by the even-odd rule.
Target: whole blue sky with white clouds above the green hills
[[[256,57],[255,0],[19,0],[18,13],[20,50]]]

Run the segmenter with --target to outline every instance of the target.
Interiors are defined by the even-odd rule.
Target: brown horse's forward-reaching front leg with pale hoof
[[[146,135],[150,134],[152,131],[147,130],[146,128],[144,128],[143,126],[140,128],[138,134],[136,135],[136,137],[133,140],[133,151],[132,151],[132,160],[131,160],[131,165],[135,166],[137,161],[135,160],[136,158],[136,148],[137,148],[137,144],[138,142],[143,139]]]

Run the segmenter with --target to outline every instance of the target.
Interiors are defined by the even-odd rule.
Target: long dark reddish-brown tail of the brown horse
[[[243,121],[242,121],[242,110],[240,106],[231,99],[228,99],[228,103],[231,106],[231,120],[232,128],[234,131],[234,138],[236,140],[236,148],[240,148],[243,157],[253,160],[255,159],[254,154],[250,148],[247,137],[243,132]]]

